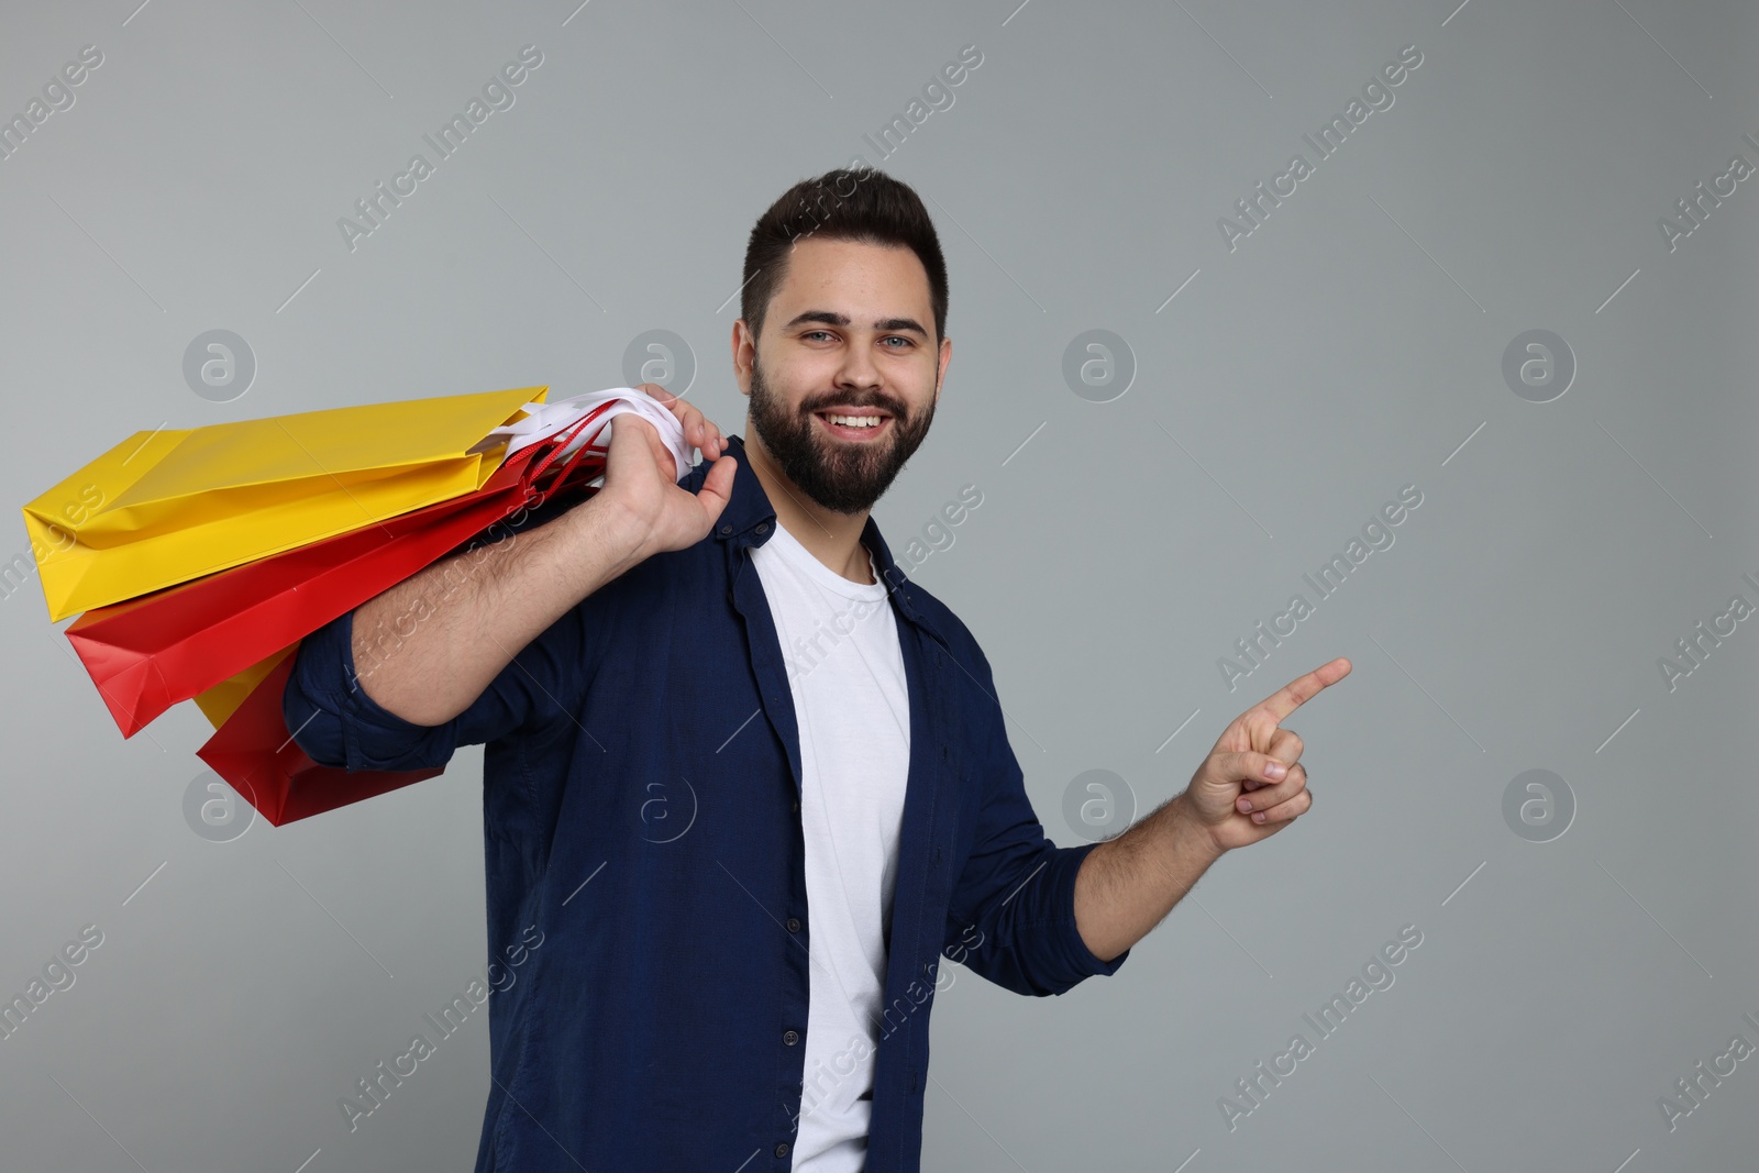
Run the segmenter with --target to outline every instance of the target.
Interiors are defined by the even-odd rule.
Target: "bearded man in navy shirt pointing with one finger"
[[[1344,659],[1124,835],[1052,844],[989,661],[869,514],[952,357],[922,200],[874,171],[807,179],[744,276],[749,443],[644,387],[702,448],[690,475],[619,417],[596,496],[343,616],[287,688],[318,761],[485,742],[491,955],[540,936],[491,1002],[478,1173],[916,1169],[943,957],[1031,995],[1112,974],[1310,804],[1277,721]]]

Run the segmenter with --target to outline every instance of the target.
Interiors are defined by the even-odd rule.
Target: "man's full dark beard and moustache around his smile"
[[[813,419],[814,412],[834,404],[880,408],[892,415],[885,424],[890,436],[878,441],[843,441],[830,436]],[[902,403],[881,396],[818,396],[790,410],[767,382],[756,357],[751,361],[751,427],[781,471],[800,492],[834,514],[864,514],[885,496],[904,463],[922,447],[934,422],[931,401],[920,419],[906,413]]]

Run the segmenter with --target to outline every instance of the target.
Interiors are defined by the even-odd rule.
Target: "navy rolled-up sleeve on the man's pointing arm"
[[[1045,837],[982,652],[973,674],[990,709],[974,747],[983,795],[971,855],[948,902],[945,951],[1015,994],[1062,994],[1085,978],[1117,973],[1129,950],[1103,962],[1082,939],[1075,876],[1099,844],[1059,848]]]

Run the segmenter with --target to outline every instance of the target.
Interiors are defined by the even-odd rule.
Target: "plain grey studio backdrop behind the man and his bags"
[[[104,53],[0,162],[16,505],[162,422],[619,385],[651,329],[742,433],[751,222],[862,157],[925,197],[952,274],[943,406],[876,515],[899,550],[982,489],[915,577],[987,649],[1050,835],[1092,834],[1062,814],[1077,776],[1152,811],[1233,716],[1351,658],[1288,723],[1312,812],[1115,978],[1040,1001],[955,971],[925,1168],[1750,1159],[1755,1060],[1673,1131],[1657,1103],[1759,1043],[1759,633],[1675,689],[1657,668],[1759,603],[1759,181],[1673,251],[1657,229],[1759,164],[1750,5],[134,4],[4,12],[7,116]],[[524,44],[515,106],[350,251],[336,220]],[[888,158],[864,141],[966,44],[950,107]],[[1395,104],[1230,251],[1217,218],[1407,44]],[[230,403],[183,378],[211,329],[255,353]],[[1062,378],[1089,329],[1135,357],[1110,403]],[[1530,329],[1578,364],[1550,403],[1502,376]],[[1230,691],[1217,659],[1407,484],[1395,545]],[[28,559],[21,522],[9,545]],[[0,1041],[5,1166],[468,1169],[485,1015],[357,1131],[338,1099],[484,973],[480,751],[209,842],[193,707],[125,742],[33,580],[0,624],[0,990],[104,932]],[[1574,800],[1548,842],[1502,814],[1534,769]],[[1402,925],[1395,985],[1319,1039],[1302,1015]],[[1230,1131],[1217,1101],[1296,1031],[1314,1053]]]

